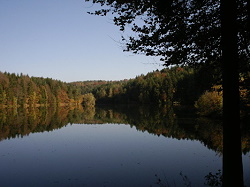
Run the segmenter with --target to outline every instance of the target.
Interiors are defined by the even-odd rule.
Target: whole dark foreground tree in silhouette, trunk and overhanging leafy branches
[[[86,0],[90,1],[90,0]],[[223,79],[223,185],[243,186],[239,71],[249,71],[249,1],[93,0],[114,14],[124,51],[161,56],[166,66],[210,64]],[[130,27],[128,27],[130,26]],[[229,158],[230,157],[230,158]],[[229,163],[230,162],[230,163]]]

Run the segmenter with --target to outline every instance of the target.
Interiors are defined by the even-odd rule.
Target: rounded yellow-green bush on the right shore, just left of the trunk
[[[202,116],[218,116],[222,114],[222,94],[217,91],[206,91],[195,102],[198,114]]]

